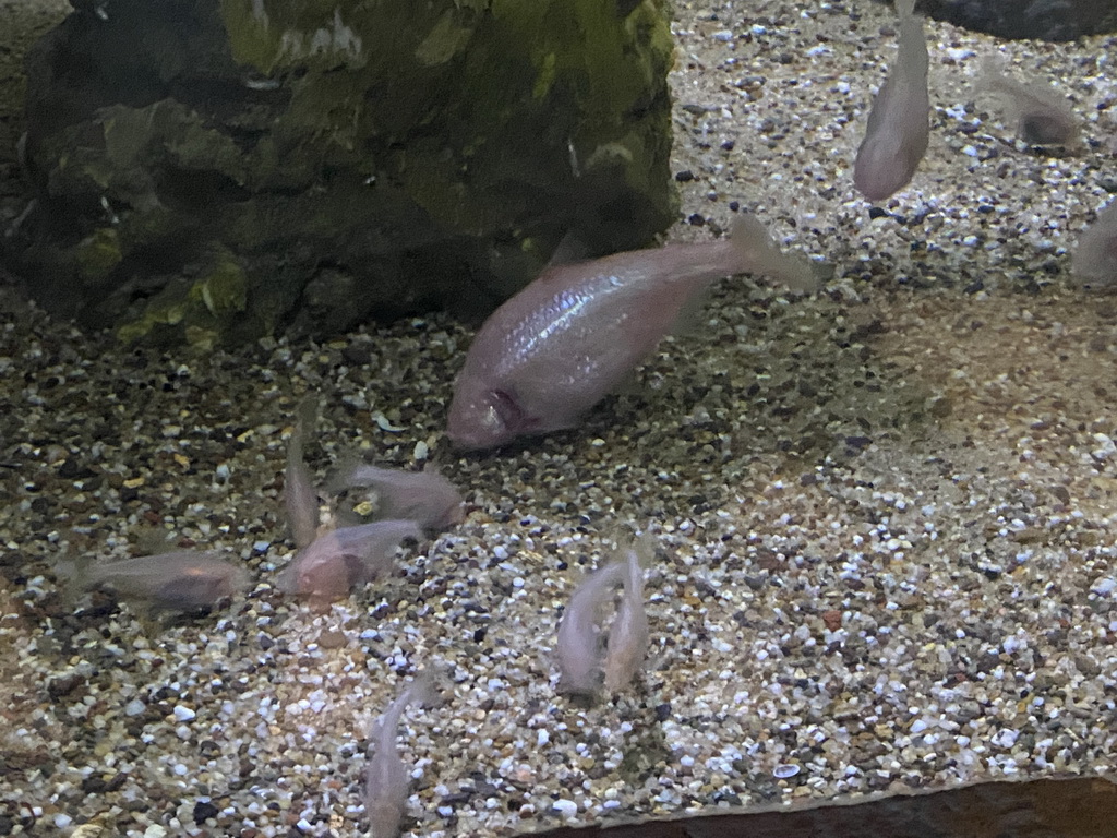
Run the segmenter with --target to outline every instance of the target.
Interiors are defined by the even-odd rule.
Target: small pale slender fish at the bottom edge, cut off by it
[[[409,704],[429,706],[437,701],[435,678],[429,669],[424,669],[380,718],[364,770],[364,813],[369,818],[372,838],[394,838],[408,804],[410,778],[395,747],[400,716]]]

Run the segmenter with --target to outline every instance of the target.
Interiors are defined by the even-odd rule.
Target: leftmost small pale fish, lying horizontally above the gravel
[[[248,584],[248,574],[216,552],[176,550],[159,555],[87,562],[75,581],[85,589],[108,588],[122,599],[154,609],[191,611],[232,597]]]

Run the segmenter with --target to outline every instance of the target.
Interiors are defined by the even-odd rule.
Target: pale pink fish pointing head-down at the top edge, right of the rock
[[[927,151],[929,59],[923,18],[914,10],[915,0],[896,0],[896,66],[872,99],[869,126],[853,164],[853,184],[870,201],[882,201],[906,187]]]

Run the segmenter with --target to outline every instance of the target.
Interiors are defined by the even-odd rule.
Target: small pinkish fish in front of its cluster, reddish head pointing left
[[[374,521],[331,530],[300,550],[284,569],[279,590],[315,602],[341,599],[354,587],[384,575],[400,542],[421,537],[413,521]]]

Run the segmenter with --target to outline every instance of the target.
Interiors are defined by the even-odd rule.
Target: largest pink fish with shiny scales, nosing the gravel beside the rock
[[[577,425],[670,331],[688,299],[731,274],[814,285],[752,216],[728,240],[671,245],[547,268],[496,310],[466,356],[447,435],[493,448]]]

